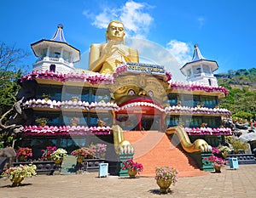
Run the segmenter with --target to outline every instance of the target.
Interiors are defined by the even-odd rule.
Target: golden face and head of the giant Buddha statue
[[[107,36],[109,40],[123,41],[123,37],[125,37],[124,25],[120,22],[110,22],[108,25]]]

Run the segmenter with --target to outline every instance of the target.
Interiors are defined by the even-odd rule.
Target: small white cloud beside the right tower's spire
[[[192,60],[193,46],[189,43],[171,40],[166,44],[166,48],[181,66]]]

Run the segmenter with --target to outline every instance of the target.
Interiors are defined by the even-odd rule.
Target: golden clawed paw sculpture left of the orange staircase
[[[131,143],[124,139],[123,129],[119,125],[113,125],[113,144],[117,154],[119,153],[134,153]]]

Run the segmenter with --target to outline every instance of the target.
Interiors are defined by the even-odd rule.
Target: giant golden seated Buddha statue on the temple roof
[[[125,46],[125,27],[112,20],[106,31],[106,43],[90,46],[89,70],[102,74],[113,74],[120,63],[138,63],[137,49]]]

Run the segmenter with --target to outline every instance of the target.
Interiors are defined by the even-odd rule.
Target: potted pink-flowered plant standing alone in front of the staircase
[[[156,167],[155,177],[156,184],[160,187],[161,193],[170,192],[170,185],[177,182],[177,170],[174,167]]]

